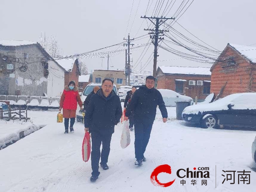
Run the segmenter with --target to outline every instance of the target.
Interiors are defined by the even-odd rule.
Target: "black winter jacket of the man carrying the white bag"
[[[148,89],[145,85],[135,91],[131,102],[126,108],[125,116],[130,116],[134,111],[134,122],[153,123],[156,117],[157,105],[163,118],[167,118],[168,113],[163,102],[163,97],[159,90]]]

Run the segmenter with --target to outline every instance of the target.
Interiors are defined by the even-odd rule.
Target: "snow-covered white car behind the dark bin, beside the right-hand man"
[[[167,107],[176,106],[175,102],[190,101],[190,105],[193,104],[193,99],[189,96],[180,95],[173,90],[158,89],[163,96],[163,101]]]

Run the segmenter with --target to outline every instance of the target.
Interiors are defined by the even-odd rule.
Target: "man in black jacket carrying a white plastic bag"
[[[146,161],[144,152],[148,145],[150,133],[156,116],[157,105],[163,116],[163,122],[167,121],[167,110],[163,102],[161,93],[154,88],[155,79],[153,76],[146,78],[146,84],[140,87],[131,99],[131,103],[126,109],[125,120],[134,111],[134,131],[135,131],[135,165],[142,165]]]

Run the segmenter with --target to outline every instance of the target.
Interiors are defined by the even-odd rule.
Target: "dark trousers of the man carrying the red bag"
[[[98,131],[91,132],[92,137],[92,175],[99,176],[99,159],[101,157],[101,163],[108,163],[108,156],[110,152],[110,143],[112,134],[102,134]],[[100,146],[102,144],[102,151],[100,152]]]

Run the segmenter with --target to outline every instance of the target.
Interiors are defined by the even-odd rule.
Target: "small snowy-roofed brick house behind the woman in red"
[[[76,86],[78,86],[78,79],[81,75],[78,59],[56,59],[56,61],[66,70],[64,76],[65,85],[68,85],[70,81],[75,81]]]

